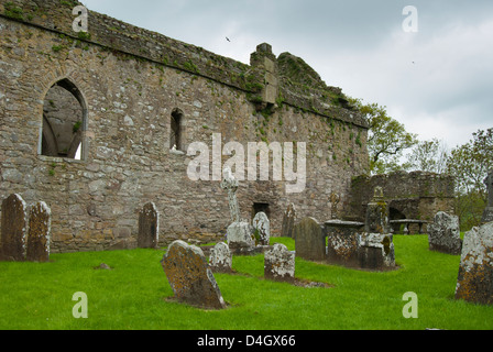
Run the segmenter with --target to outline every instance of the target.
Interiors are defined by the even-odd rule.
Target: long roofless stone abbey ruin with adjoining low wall
[[[362,176],[364,117],[302,58],[261,44],[246,65],[92,11],[88,32],[75,32],[78,4],[0,0],[0,199],[50,207],[52,252],[135,248],[149,204],[160,245],[222,240],[220,179],[187,175],[189,146],[218,138],[260,143],[256,164],[262,143],[294,143],[295,160],[306,143],[303,191],[272,172],[239,185],[241,218],[266,213],[273,235],[292,204],[298,221],[362,221],[377,186],[391,220],[453,212],[447,176]]]

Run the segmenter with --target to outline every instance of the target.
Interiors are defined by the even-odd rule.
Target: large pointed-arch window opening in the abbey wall
[[[44,99],[40,154],[81,160],[85,124],[80,91],[68,79],[56,82]]]

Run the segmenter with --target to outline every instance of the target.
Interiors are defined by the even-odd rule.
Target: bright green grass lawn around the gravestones
[[[291,239],[273,239],[294,250]],[[263,279],[263,255],[234,256],[237,275],[216,274],[229,308],[174,302],[160,261],[164,250],[53,254],[52,262],[0,263],[0,329],[37,330],[375,330],[493,329],[493,306],[453,299],[458,255],[430,252],[426,235],[395,235],[397,271],[374,273],[296,260],[296,277],[330,288]],[[106,263],[112,271],[95,270]],[[73,295],[88,297],[75,319]],[[405,319],[403,295],[418,297]]]

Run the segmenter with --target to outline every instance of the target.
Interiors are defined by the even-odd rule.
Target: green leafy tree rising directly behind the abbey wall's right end
[[[387,114],[386,107],[365,105],[361,99],[350,99],[350,102],[370,124],[368,147],[371,173],[385,174],[406,168],[401,157],[405,150],[417,143],[416,134],[406,132],[404,124]]]

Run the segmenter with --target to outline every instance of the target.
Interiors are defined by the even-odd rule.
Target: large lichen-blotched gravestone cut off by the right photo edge
[[[493,222],[464,235],[456,298],[493,305]]]

